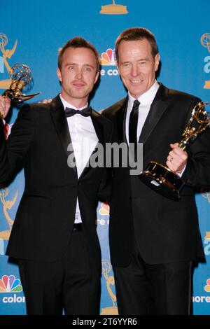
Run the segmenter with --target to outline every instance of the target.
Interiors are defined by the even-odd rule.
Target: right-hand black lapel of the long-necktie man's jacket
[[[148,113],[144,126],[141,130],[141,134],[139,137],[139,143],[146,143],[148,137],[150,137],[153,132],[155,126],[158,124],[160,118],[163,113],[167,109],[167,102],[165,102],[165,94],[167,92],[167,88],[164,85],[160,84],[157,94],[155,95],[155,99],[151,104],[151,109]]]

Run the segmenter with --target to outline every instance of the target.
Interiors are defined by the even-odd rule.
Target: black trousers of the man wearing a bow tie
[[[57,262],[19,260],[29,315],[99,314],[100,276],[83,232],[73,232]]]

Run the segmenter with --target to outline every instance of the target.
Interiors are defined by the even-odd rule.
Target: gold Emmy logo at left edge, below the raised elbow
[[[8,214],[8,210],[10,210],[18,197],[18,191],[16,191],[15,196],[13,197],[13,200],[6,200],[6,197],[8,197],[8,188],[0,190],[0,200],[3,205],[3,214],[6,217],[6,221],[8,223],[9,230],[1,231],[0,232],[0,239],[8,240],[10,237],[10,232],[13,227],[13,219],[10,218],[10,215]]]

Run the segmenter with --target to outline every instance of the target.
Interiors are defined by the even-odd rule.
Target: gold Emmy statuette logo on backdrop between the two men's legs
[[[106,288],[109,296],[111,297],[112,306],[102,308],[101,315],[118,315],[118,307],[116,307],[117,298],[111,289],[111,286],[114,286],[115,284],[115,279],[113,275],[109,276],[109,272],[111,272],[111,263],[109,260],[102,260],[102,273],[104,275],[104,279],[106,280]]]

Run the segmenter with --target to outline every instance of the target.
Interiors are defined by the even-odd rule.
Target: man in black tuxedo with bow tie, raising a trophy
[[[112,125],[88,106],[99,55],[76,37],[59,53],[61,94],[18,113],[8,141],[0,123],[0,183],[25,170],[25,190],[8,242],[18,258],[27,314],[99,314],[101,255],[96,209],[106,173],[90,167]],[[10,100],[0,97],[5,118]]]

